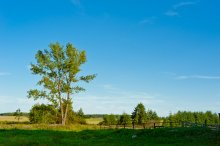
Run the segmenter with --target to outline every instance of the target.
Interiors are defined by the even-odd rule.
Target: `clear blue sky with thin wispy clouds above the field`
[[[34,55],[52,42],[86,50],[82,74],[98,77],[73,107],[160,116],[220,111],[219,0],[0,1],[0,113],[28,112]]]

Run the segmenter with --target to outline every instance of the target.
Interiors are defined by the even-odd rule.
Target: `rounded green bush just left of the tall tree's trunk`
[[[31,123],[55,124],[58,122],[57,110],[52,105],[35,104],[29,114]]]

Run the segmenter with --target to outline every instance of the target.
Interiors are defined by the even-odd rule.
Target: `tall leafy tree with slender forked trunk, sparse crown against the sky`
[[[40,75],[38,82],[42,88],[28,91],[28,97],[45,98],[60,109],[62,125],[65,125],[71,96],[84,88],[79,81],[88,83],[96,75],[79,76],[80,67],[86,62],[86,52],[77,50],[68,43],[64,48],[59,43],[50,44],[50,49],[39,50],[35,56],[36,64],[31,64],[34,75]]]

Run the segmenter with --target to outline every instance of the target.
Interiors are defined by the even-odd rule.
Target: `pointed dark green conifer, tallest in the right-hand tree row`
[[[147,115],[146,115],[145,107],[142,103],[139,103],[135,107],[135,109],[131,115],[131,118],[132,118],[133,124],[143,124],[146,122]]]

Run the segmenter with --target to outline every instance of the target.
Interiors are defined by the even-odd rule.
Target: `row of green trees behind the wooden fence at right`
[[[123,113],[122,115],[104,115],[101,125],[143,125],[148,126],[151,123],[157,125],[182,125],[183,123],[194,124],[218,124],[220,117],[211,111],[206,112],[191,112],[191,111],[178,111],[175,114],[170,114],[167,117],[159,117],[155,111],[150,109],[145,110],[142,103],[139,103],[131,115]]]

